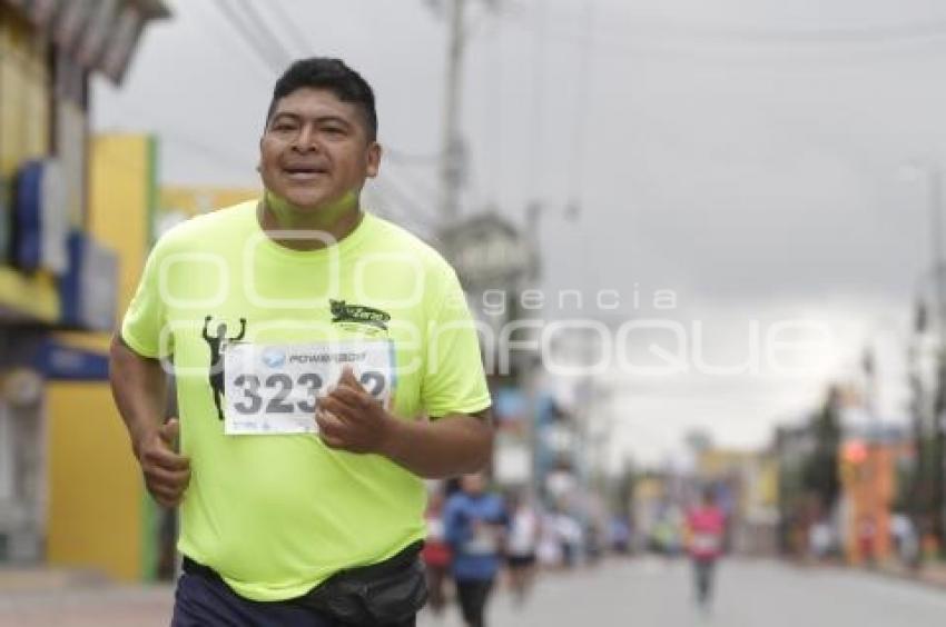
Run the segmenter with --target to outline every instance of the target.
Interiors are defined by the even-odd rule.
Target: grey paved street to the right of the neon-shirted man
[[[659,560],[610,565],[546,577],[528,607],[496,598],[492,627],[660,626],[687,627],[889,627],[942,625],[946,590],[840,569],[805,569],[770,561],[730,561],[719,573],[719,598],[701,615],[690,603],[683,563]],[[421,627],[460,627],[424,620]]]

